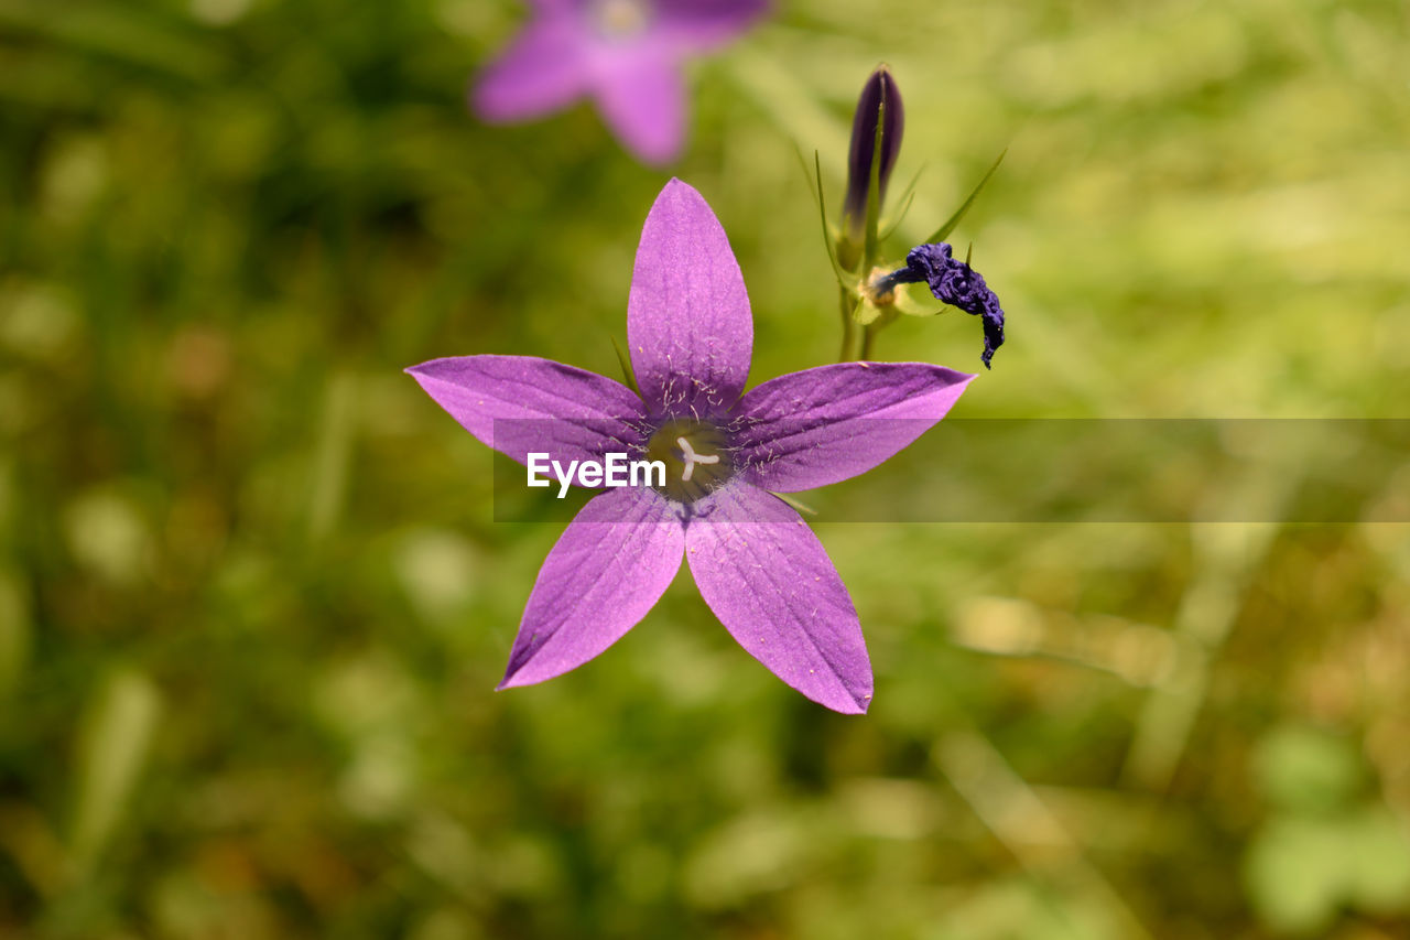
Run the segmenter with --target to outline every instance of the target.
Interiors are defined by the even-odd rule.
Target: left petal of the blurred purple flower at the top
[[[582,28],[575,17],[546,13],[530,23],[475,82],[475,113],[517,121],[567,106],[588,92]]]

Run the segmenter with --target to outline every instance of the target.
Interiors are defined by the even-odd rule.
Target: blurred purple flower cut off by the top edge
[[[666,164],[685,138],[682,59],[732,41],[767,0],[530,0],[533,21],[481,73],[474,104],[517,121],[591,96],[622,144]]]

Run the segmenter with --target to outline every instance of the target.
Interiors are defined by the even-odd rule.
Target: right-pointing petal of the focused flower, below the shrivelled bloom
[[[839,363],[780,375],[739,402],[736,466],[774,493],[847,480],[929,430],[973,378],[928,363]]]

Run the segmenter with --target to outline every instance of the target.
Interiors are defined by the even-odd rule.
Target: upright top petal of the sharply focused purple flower
[[[649,411],[706,415],[735,404],[754,347],[744,277],[715,213],[680,179],[646,217],[626,318]]]

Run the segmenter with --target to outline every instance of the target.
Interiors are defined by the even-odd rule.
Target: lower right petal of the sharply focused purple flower
[[[818,536],[747,483],[702,501],[685,528],[701,597],[754,659],[814,701],[862,714],[871,661],[857,611]]]

